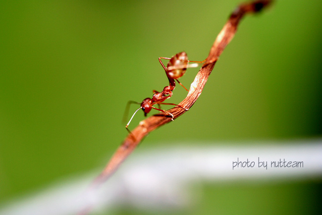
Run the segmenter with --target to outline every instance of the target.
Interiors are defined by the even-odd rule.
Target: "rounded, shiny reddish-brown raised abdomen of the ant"
[[[169,62],[167,64],[167,68],[169,68],[170,66],[174,66],[174,67],[178,66],[179,68],[171,69],[171,70],[168,69],[167,70],[167,75],[170,78],[173,78],[173,79],[180,78],[186,72],[188,62],[189,62],[188,61],[188,56],[187,56],[187,54],[185,52],[180,52],[180,53],[174,55],[169,60]]]

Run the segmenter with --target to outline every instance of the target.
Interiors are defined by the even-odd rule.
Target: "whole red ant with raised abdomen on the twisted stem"
[[[161,61],[161,58],[162,59],[169,59],[169,62],[167,64],[167,67],[164,66],[164,64]],[[145,100],[143,100],[143,102],[141,104],[138,103],[138,102],[134,102],[134,101],[129,101],[128,102],[128,105],[127,105],[127,108],[126,109],[128,109],[129,105],[131,105],[132,103],[139,104],[141,107],[138,108],[134,112],[134,114],[132,115],[130,121],[126,124],[125,128],[127,130],[128,130],[127,127],[129,126],[129,124],[130,124],[133,116],[136,114],[136,112],[139,109],[142,109],[144,111],[144,115],[145,116],[147,116],[147,113],[149,113],[152,108],[153,109],[156,109],[156,110],[159,110],[159,111],[161,111],[163,113],[166,113],[166,114],[171,115],[171,120],[173,121],[174,116],[173,116],[172,113],[169,113],[166,110],[163,110],[163,109],[160,109],[160,108],[157,108],[157,107],[153,107],[153,106],[156,105],[156,104],[158,104],[159,107],[161,107],[160,105],[162,104],[162,105],[174,105],[174,106],[181,107],[179,105],[172,104],[172,103],[163,103],[166,99],[168,99],[168,98],[170,98],[172,96],[172,91],[175,88],[175,81],[174,80],[176,80],[184,89],[187,90],[187,88],[185,88],[178,81],[178,78],[180,78],[182,75],[184,75],[184,73],[186,72],[186,70],[187,70],[188,67],[196,67],[196,66],[198,66],[197,63],[188,65],[188,62],[203,63],[206,60],[204,60],[204,61],[190,61],[190,60],[188,60],[187,54],[185,52],[181,52],[181,53],[175,54],[171,58],[168,58],[168,57],[159,57],[159,61],[160,61],[161,65],[162,65],[163,69],[165,70],[166,76],[168,77],[169,86],[164,87],[163,90],[162,90],[162,92],[158,92],[158,91],[154,90],[153,91],[154,94],[152,96],[152,99],[146,98]],[[184,107],[181,107],[181,108],[184,108]],[[184,109],[185,110],[188,110],[186,108],[184,108]]]

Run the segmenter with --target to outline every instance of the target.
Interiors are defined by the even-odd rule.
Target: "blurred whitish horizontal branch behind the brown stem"
[[[147,142],[144,142],[147,146]],[[236,144],[185,143],[171,148],[140,147],[96,191],[85,192],[95,174],[69,178],[49,188],[1,205],[0,215],[70,215],[81,208],[108,211],[121,204],[144,209],[184,207],[189,204],[187,185],[195,181],[231,180],[275,183],[322,177],[322,140],[288,142],[243,142]],[[144,150],[144,151],[143,151]],[[232,162],[254,161],[253,168]],[[259,168],[268,161],[268,169]],[[270,167],[270,161],[303,161],[303,167]]]

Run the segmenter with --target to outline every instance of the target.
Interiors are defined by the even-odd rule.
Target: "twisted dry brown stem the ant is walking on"
[[[213,47],[206,59],[206,62],[198,72],[195,80],[191,84],[187,97],[179,104],[181,107],[189,109],[197,101],[202,93],[205,84],[208,80],[210,73],[212,72],[215,62],[219,55],[225,49],[227,44],[234,37],[237,30],[237,26],[241,18],[246,13],[256,13],[262,10],[262,8],[268,6],[272,0],[256,0],[252,2],[246,2],[238,6],[235,11],[230,15],[227,23],[217,36]],[[174,107],[167,112],[172,113],[174,119],[182,115],[186,110],[181,107]],[[118,168],[122,161],[124,161],[128,155],[132,153],[135,147],[141,142],[141,140],[147,136],[151,131],[171,121],[171,116],[164,113],[153,115],[143,121],[132,131],[132,135],[129,134],[123,144],[117,149],[111,160],[107,163],[107,166],[102,173],[93,182],[94,186],[97,186],[107,180],[107,178]]]

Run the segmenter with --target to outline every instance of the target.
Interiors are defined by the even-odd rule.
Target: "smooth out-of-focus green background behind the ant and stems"
[[[103,167],[127,135],[127,101],[168,84],[158,57],[205,59],[239,3],[1,1],[0,205]],[[245,17],[195,105],[140,148],[321,137],[321,8],[320,0],[280,0]],[[197,72],[180,81],[189,87]],[[168,102],[187,94],[179,85],[173,93]],[[184,213],[314,214],[321,182],[207,183],[203,201]]]

